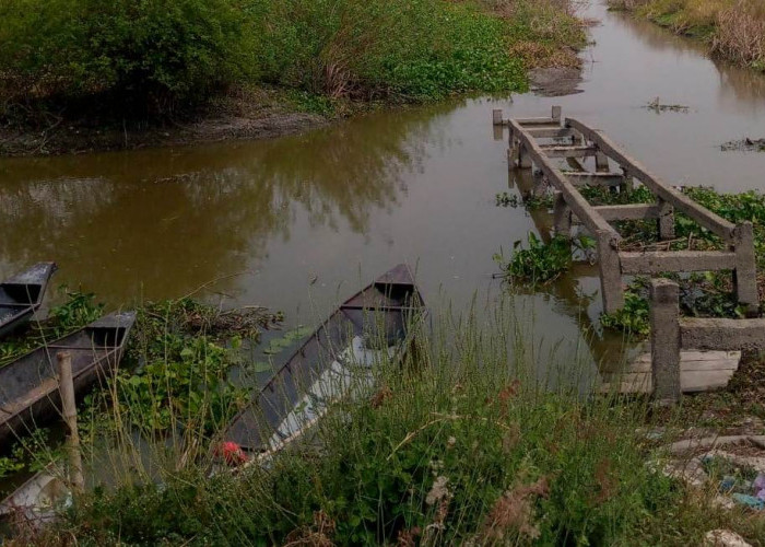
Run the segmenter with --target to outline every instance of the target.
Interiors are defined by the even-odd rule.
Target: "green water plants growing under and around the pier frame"
[[[627,205],[654,202],[656,197],[651,191],[637,185],[634,188],[611,190],[605,187],[584,186],[581,195],[592,205]],[[757,271],[765,271],[765,195],[750,190],[741,194],[723,194],[714,188],[685,187],[683,193],[699,202],[710,211],[732,223],[752,222],[754,226],[754,249]],[[497,205],[517,207],[507,195],[497,195]],[[523,202],[527,208],[546,208],[544,198]],[[540,205],[541,203],[541,205]],[[616,229],[623,236],[620,246],[623,249],[695,249],[720,251],[725,243],[708,230],[682,213],[675,213],[675,238],[659,241],[656,221],[620,221]],[[591,242],[581,237],[574,243],[584,251],[591,248]],[[503,270],[514,280],[530,284],[544,284],[565,272],[572,264],[570,243],[564,237],[553,237],[543,243],[539,237],[529,236],[529,248],[521,249],[520,242],[515,243],[515,252],[509,260],[495,256]],[[730,272],[709,271],[687,275],[664,274],[662,277],[673,279],[680,286],[681,312],[691,316],[703,317],[743,317],[744,310],[738,304],[733,294],[733,282]],[[765,276],[757,278],[761,301],[765,295]],[[601,316],[601,325],[605,328],[623,330],[633,338],[643,338],[649,333],[648,317],[648,283],[645,278],[634,279],[625,290],[625,305],[613,314]]]

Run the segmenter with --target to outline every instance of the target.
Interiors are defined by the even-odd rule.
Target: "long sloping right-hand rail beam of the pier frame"
[[[705,207],[696,203],[693,199],[678,191],[670,185],[650,173],[637,160],[627,155],[607,135],[599,129],[589,126],[574,118],[566,118],[565,127],[576,129],[591,141],[600,151],[626,168],[631,176],[634,176],[646,185],[654,194],[664,201],[669,201],[676,210],[687,214],[702,226],[730,242],[733,240],[734,224],[715,214]]]

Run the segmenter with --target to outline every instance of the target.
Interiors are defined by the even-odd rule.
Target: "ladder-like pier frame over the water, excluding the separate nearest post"
[[[603,310],[615,312],[624,305],[622,277],[661,272],[720,271],[733,275],[738,301],[748,313],[756,313],[760,300],[751,222],[733,224],[696,203],[637,160],[627,155],[602,131],[575,118],[563,118],[560,106],[550,117],[504,119],[494,110],[494,124],[507,126],[511,168],[536,166],[555,190],[554,224],[557,234],[570,235],[577,220],[595,236]],[[557,142],[541,142],[553,139]],[[561,140],[569,140],[562,144]],[[588,159],[595,168],[586,168]],[[565,159],[562,168],[554,160]],[[654,194],[654,203],[592,206],[577,189],[582,185],[631,188],[638,182]],[[654,220],[659,238],[674,238],[674,213],[682,212],[718,235],[725,251],[642,251],[621,248],[622,236],[612,225],[622,220]]]

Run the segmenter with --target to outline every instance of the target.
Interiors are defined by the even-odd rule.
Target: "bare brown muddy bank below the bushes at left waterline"
[[[327,125],[341,115],[301,112],[269,90],[232,92],[184,120],[161,125],[49,115],[36,125],[0,121],[0,155],[80,154],[176,147],[236,139],[268,139]]]

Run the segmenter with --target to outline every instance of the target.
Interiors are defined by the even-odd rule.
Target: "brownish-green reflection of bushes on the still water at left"
[[[442,130],[427,109],[269,142],[5,161],[0,272],[56,259],[113,302],[184,294],[257,267],[297,217],[365,233]]]

